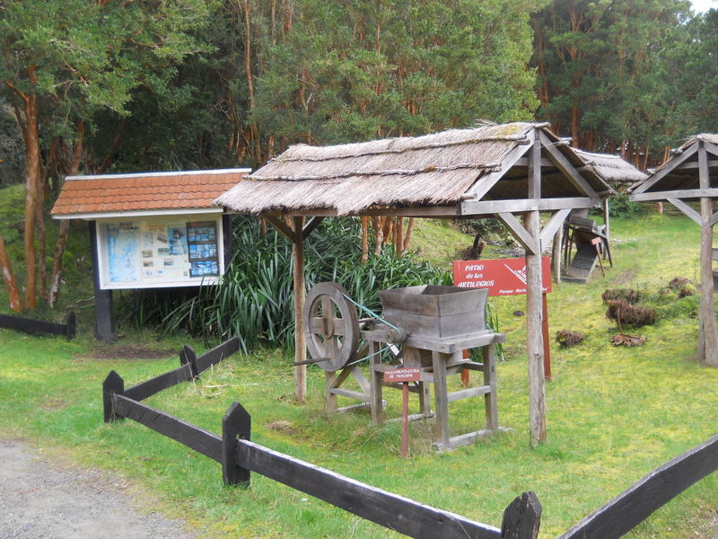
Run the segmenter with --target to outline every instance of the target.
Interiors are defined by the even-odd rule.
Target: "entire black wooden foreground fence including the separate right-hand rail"
[[[501,529],[475,522],[413,499],[303,462],[251,441],[250,414],[232,403],[222,421],[222,437],[143,404],[143,399],[199,376],[239,349],[230,340],[197,358],[185,347],[181,367],[125,390],[114,371],[103,383],[105,421],[129,418],[171,437],[222,464],[223,481],[249,486],[250,473],[260,473],[338,508],[410,537],[535,539],[541,505],[533,492],[516,498],[503,512]],[[602,508],[584,518],[559,539],[614,539],[643,522],[680,492],[718,470],[718,435],[671,460],[636,482]]]

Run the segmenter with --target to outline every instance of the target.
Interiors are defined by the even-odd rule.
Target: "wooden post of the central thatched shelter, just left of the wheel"
[[[293,283],[294,283],[294,361],[301,363],[307,359],[306,337],[304,335],[304,298],[307,291],[304,284],[304,217],[293,217],[294,240]],[[307,402],[307,366],[294,367],[294,398],[297,402]]]

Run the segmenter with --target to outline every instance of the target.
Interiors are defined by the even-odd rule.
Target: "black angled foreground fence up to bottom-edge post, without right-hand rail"
[[[224,415],[222,437],[138,402],[197,376],[192,373],[215,365],[233,353],[232,349],[233,343],[223,343],[197,358],[192,349],[185,347],[180,354],[181,367],[127,390],[122,377],[111,371],[102,384],[105,421],[135,420],[206,455],[222,464],[223,481],[227,484],[248,486],[250,473],[259,473],[410,537],[536,539],[538,536],[540,504],[532,492],[524,493],[506,508],[500,529],[260,446],[250,440],[250,414],[238,402],[232,403]]]

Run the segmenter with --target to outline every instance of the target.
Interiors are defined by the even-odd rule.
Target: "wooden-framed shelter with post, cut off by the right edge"
[[[668,200],[701,227],[701,306],[698,358],[718,367],[712,269],[713,227],[718,222],[713,200],[718,197],[718,135],[690,137],[648,178],[631,190],[635,202]],[[699,201],[700,213],[690,202]]]

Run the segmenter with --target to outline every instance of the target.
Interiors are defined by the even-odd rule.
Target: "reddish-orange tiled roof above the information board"
[[[147,172],[66,178],[53,216],[174,208],[214,208],[212,201],[250,171]]]

